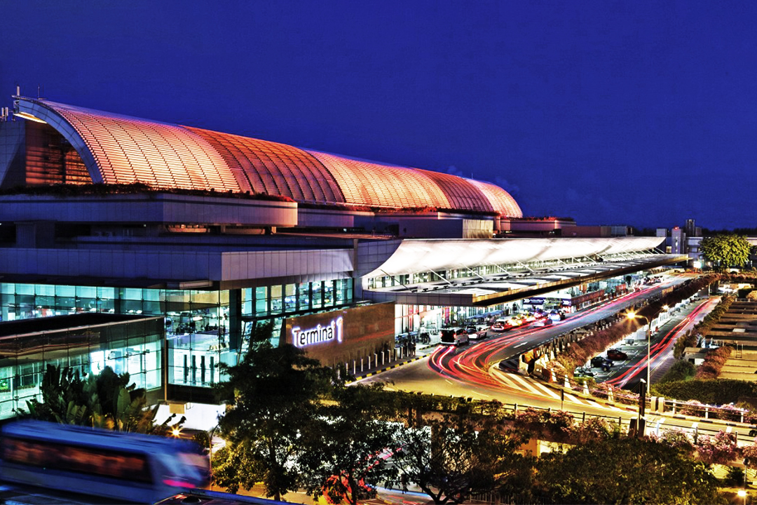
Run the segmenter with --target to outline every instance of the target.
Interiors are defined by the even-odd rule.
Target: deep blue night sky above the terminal
[[[501,185],[528,216],[757,226],[757,2],[4,5],[22,95]]]

